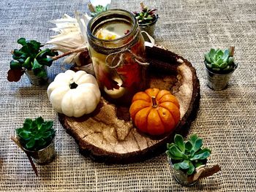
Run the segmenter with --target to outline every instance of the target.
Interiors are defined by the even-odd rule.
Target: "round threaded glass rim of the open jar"
[[[120,12],[120,14],[118,14],[118,12]],[[118,37],[116,39],[99,39],[94,36],[94,34],[92,33],[92,30],[91,30],[91,26],[94,24],[94,22],[96,20],[98,20],[99,18],[107,17],[109,15],[121,15],[121,12],[123,12],[125,15],[127,15],[132,20],[132,28],[131,28],[131,31],[129,31],[129,33],[125,34],[122,37]],[[94,39],[96,41],[98,40],[98,41],[102,41],[102,42],[116,42],[116,41],[120,41],[120,40],[123,40],[123,39],[129,37],[132,33],[135,32],[137,26],[138,26],[137,20],[135,18],[135,15],[132,14],[132,12],[129,12],[124,9],[108,9],[105,12],[100,12],[98,15],[95,15],[94,18],[91,18],[91,20],[89,21],[89,23],[87,25],[87,35],[91,39]]]

